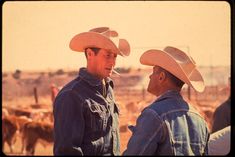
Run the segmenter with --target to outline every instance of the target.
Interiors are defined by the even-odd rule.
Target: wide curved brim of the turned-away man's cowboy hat
[[[176,60],[164,51],[155,49],[148,50],[141,55],[140,63],[149,66],[160,66],[198,92],[203,92],[205,89],[202,75],[196,67],[187,74],[184,69],[186,66],[184,65],[189,63],[183,60]]]

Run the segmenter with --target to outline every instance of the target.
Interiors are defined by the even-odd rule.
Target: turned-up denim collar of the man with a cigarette
[[[85,67],[80,68],[78,75],[84,81],[89,83],[91,86],[100,86],[100,85],[102,85],[102,80],[100,80],[97,77],[95,77],[94,75],[88,73],[87,68],[85,68]],[[112,79],[107,77],[107,78],[105,78],[105,82],[110,84],[110,82],[112,83]]]

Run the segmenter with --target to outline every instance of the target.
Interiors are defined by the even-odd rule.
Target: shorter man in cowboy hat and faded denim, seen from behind
[[[207,124],[180,94],[184,83],[198,92],[204,90],[204,81],[194,60],[168,46],[163,51],[144,52],[140,63],[153,66],[148,92],[157,99],[142,111],[136,126],[132,126],[124,155],[207,154]]]

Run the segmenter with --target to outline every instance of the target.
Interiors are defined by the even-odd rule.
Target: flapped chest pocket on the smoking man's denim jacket
[[[104,105],[96,102],[88,104],[86,116],[88,130],[91,130],[92,132],[105,130],[108,114]]]

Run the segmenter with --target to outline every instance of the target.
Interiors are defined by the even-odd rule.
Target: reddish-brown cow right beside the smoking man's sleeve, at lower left
[[[32,121],[24,125],[22,145],[26,155],[34,155],[38,140],[54,142],[52,123]]]

